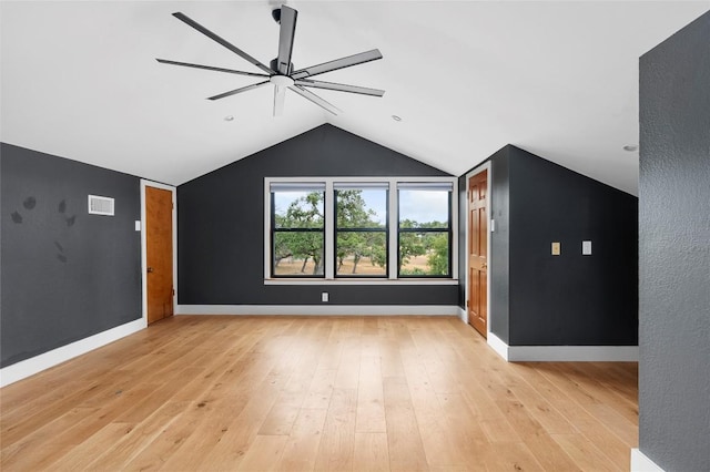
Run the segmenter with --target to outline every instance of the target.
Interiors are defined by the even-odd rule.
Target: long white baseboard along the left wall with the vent
[[[33,376],[50,367],[58,366],[77,356],[81,356],[91,350],[132,335],[146,327],[144,318],[126,322],[115,328],[108,329],[97,335],[90,336],[67,346],[62,346],[51,351],[34,356],[30,359],[21,360],[12,366],[0,369],[0,387],[9,386],[18,380]]]

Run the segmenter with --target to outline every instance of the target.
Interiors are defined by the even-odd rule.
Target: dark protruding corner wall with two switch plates
[[[636,346],[638,199],[511,145],[489,160],[491,332],[508,346]]]

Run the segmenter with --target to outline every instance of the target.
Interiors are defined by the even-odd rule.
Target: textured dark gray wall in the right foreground
[[[710,12],[640,60],[639,449],[710,470]]]

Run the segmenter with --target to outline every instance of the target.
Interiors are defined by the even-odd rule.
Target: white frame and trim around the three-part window
[[[273,237],[272,237],[272,184],[325,184],[324,195],[324,275],[323,276],[274,276],[272,274]],[[337,183],[372,184],[386,183],[387,191],[387,274],[386,276],[336,276],[336,215],[335,185]],[[399,276],[399,202],[397,185],[400,183],[450,183],[449,193],[449,276]],[[456,285],[458,284],[458,178],[450,177],[264,177],[264,284],[265,285]],[[394,230],[396,229],[396,230]],[[439,229],[435,229],[439,230]]]

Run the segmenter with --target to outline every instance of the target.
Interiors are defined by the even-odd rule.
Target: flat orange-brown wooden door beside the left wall
[[[173,315],[173,194],[145,187],[148,324]]]

